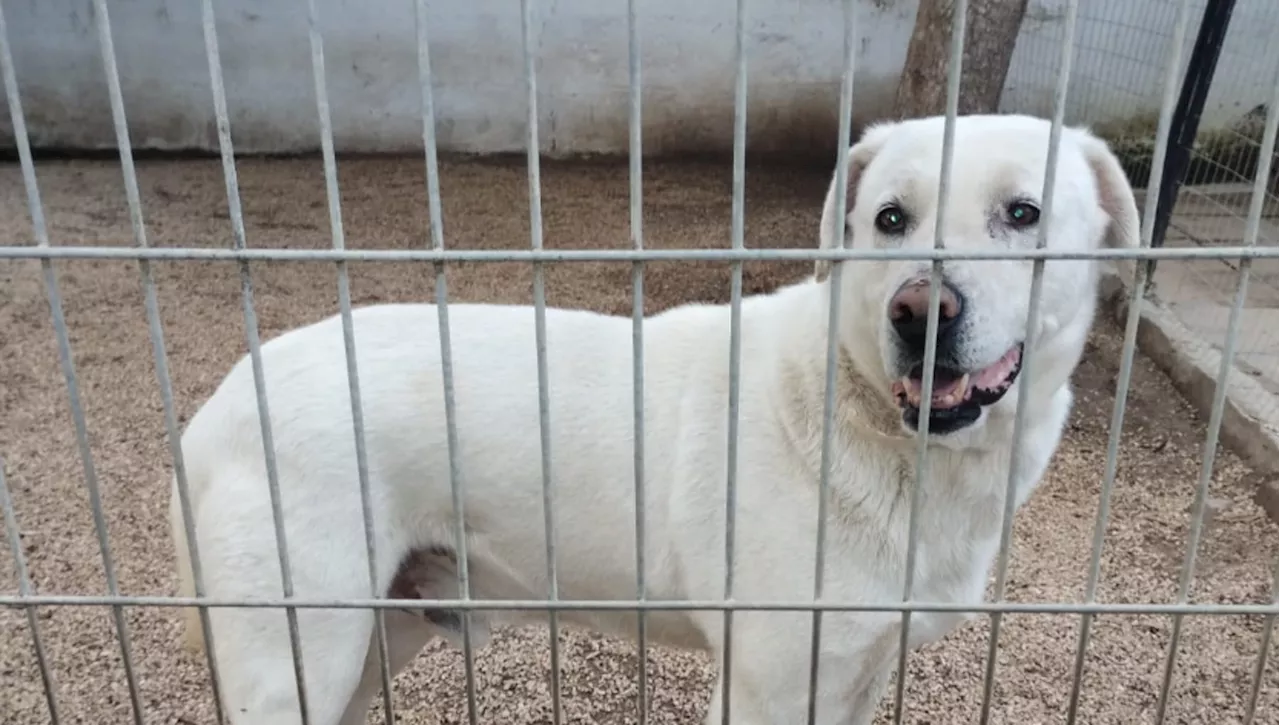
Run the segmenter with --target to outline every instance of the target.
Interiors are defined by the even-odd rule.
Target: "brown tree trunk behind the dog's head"
[[[996,113],[1027,0],[969,0],[965,12],[960,113]],[[937,115],[947,109],[947,61],[955,0],[920,0],[906,49],[893,115]]]

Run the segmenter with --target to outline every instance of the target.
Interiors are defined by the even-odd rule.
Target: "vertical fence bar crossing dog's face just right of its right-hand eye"
[[[1061,56],[1059,59],[1057,87],[1053,94],[1053,119],[1048,134],[1048,158],[1044,161],[1044,181],[1041,192],[1041,216],[1052,218],[1053,200],[1057,191],[1057,163],[1062,146],[1062,126],[1066,117],[1066,97],[1071,85],[1071,60],[1075,49],[1075,26],[1079,15],[1079,0],[1070,0],[1066,5],[1066,27],[1062,31]],[[1037,228],[1036,247],[1044,248],[1048,245],[1048,224]],[[1027,421],[1028,388],[1032,379],[1033,359],[1036,357],[1036,327],[1039,320],[1039,307],[1043,297],[1044,260],[1038,259],[1032,265],[1030,304],[1027,310],[1027,333],[1023,336],[1021,375],[1018,380],[1018,403],[1014,411],[1012,444],[1009,453],[1009,478],[1005,484],[1005,506],[1000,526],[1000,553],[996,564],[996,601],[1005,598],[1005,587],[1009,576],[1009,550],[1012,543],[1014,514],[1018,503],[1018,459],[1023,450],[1023,437]],[[987,670],[983,676],[982,710],[979,722],[987,725],[991,721],[991,702],[996,685],[996,651],[1000,644],[1000,626],[1004,623],[1001,612],[991,615],[991,638],[987,646]]]

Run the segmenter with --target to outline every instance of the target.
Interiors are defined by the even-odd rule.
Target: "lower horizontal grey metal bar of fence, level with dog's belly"
[[[1098,615],[1280,615],[1271,605],[1106,605],[1065,602],[751,602],[707,599],[302,599],[211,597],[104,597],[78,594],[0,594],[0,607],[28,606],[125,606],[125,607],[221,607],[300,610],[462,610],[462,611],[774,611],[774,612],[972,612],[972,614],[1098,614]]]

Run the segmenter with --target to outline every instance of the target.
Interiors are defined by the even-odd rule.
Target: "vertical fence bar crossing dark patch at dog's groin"
[[[431,225],[431,248],[444,250],[444,211],[440,204],[440,165],[435,145],[435,96],[431,90],[431,51],[426,0],[415,0],[417,26],[417,74],[422,100],[422,150],[426,158],[426,205]],[[453,346],[449,336],[449,287],[443,263],[435,264],[435,311],[440,337],[440,378],[444,387],[444,425],[449,452],[449,492],[453,503],[453,537],[458,552],[458,594],[471,599],[470,557],[467,556],[466,496],[458,464],[458,416],[453,396]],[[467,721],[476,725],[475,644],[471,640],[471,610],[462,610],[462,662],[467,692]]]

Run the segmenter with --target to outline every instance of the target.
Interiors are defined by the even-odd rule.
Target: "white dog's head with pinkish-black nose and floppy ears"
[[[849,154],[844,238],[832,179],[823,247],[933,247],[943,124],[933,117],[865,131]],[[1048,213],[1042,209],[1048,141],[1050,122],[1039,118],[956,119],[945,248],[1029,250],[1042,229],[1050,250],[1138,245],[1128,179],[1106,143],[1088,131],[1062,129],[1053,205]],[[828,266],[818,264],[819,279]],[[842,345],[859,371],[901,409],[908,430],[919,423],[929,268],[927,260],[856,260],[841,273]],[[1036,356],[1032,396],[1052,395],[1079,361],[1093,320],[1097,264],[1044,263],[1034,351],[1027,348],[1032,277],[1032,260],[941,264],[929,430],[943,441],[963,444],[989,415],[1011,415],[1025,355]]]

